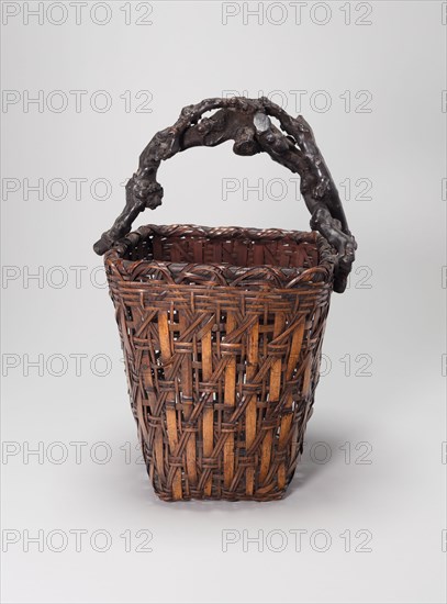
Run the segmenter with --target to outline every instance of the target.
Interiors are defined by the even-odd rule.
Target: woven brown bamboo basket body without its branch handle
[[[327,242],[149,225],[104,261],[157,495],[281,499],[319,381],[335,261]]]

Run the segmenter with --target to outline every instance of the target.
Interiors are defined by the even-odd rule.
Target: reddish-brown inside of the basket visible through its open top
[[[235,230],[236,232],[239,230]],[[314,233],[284,232],[284,236],[250,238],[241,234],[205,236],[189,232],[182,235],[149,233],[126,248],[126,260],[231,265],[235,267],[270,266],[312,268],[319,266],[319,245]],[[300,236],[297,236],[300,235]]]

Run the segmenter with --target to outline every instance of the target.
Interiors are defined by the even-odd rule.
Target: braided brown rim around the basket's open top
[[[254,265],[244,267],[228,262],[174,262],[166,260],[130,260],[123,256],[132,247],[141,244],[153,235],[161,237],[198,237],[208,239],[241,238],[262,242],[275,242],[287,239],[293,243],[309,243],[316,245],[319,262],[309,268],[281,267],[280,265]],[[200,279],[206,275],[213,276],[213,281],[206,280],[202,287],[238,287],[247,286],[256,277],[264,275],[266,287],[269,289],[291,289],[299,284],[323,286],[329,283],[334,277],[334,269],[337,264],[337,254],[331,244],[316,231],[287,231],[282,228],[256,228],[241,226],[201,226],[197,224],[148,224],[128,233],[119,239],[113,247],[105,253],[104,264],[115,266],[120,273],[127,276],[126,280],[138,280],[142,273],[159,276],[163,280],[171,281],[172,284],[182,283],[186,275],[194,272]],[[124,277],[124,276],[123,276]],[[270,281],[270,283],[269,283]],[[195,283],[198,287],[200,284]]]

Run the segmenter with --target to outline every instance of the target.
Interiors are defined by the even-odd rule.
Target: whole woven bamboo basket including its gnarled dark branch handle
[[[227,139],[238,155],[264,150],[300,174],[314,231],[130,233],[138,212],[160,203],[161,160]],[[301,116],[267,99],[208,99],[154,136],[123,212],[94,249],[105,253],[132,411],[161,500],[284,495],[313,410],[331,293],[345,289],[355,248]]]

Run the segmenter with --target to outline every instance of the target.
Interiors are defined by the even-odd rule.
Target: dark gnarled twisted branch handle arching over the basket
[[[220,111],[202,118],[214,109]],[[279,121],[283,132],[271,123],[269,115]],[[312,215],[311,227],[338,251],[334,291],[342,293],[357,244],[338,191],[308,122],[301,115],[290,116],[266,98],[205,99],[183,108],[174,126],[158,132],[139,156],[138,170],[126,184],[124,210],[94,244],[94,251],[104,254],[131,231],[139,212],[160,205],[164,191],[156,177],[163,160],[190,147],[214,147],[228,139],[234,141],[233,150],[237,155],[266,152],[275,161],[300,175],[301,193]]]

